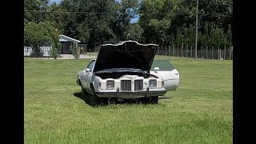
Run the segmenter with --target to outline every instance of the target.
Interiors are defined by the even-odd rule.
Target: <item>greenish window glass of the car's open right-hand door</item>
[[[159,67],[159,71],[174,70],[174,66],[168,60],[154,60],[150,70]]]

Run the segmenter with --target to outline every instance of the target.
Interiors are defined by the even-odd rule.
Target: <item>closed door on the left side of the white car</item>
[[[92,71],[94,68],[95,60],[89,62],[89,64],[84,68],[83,74],[81,77],[82,86],[86,90],[90,90],[90,81],[92,77]]]

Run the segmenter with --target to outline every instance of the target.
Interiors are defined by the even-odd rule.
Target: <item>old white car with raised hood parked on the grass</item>
[[[167,90],[176,90],[179,74],[171,65],[164,69],[165,65],[158,66],[161,61],[154,61],[157,48],[158,45],[135,41],[102,45],[97,59],[91,60],[77,74],[82,94],[92,94],[103,103],[110,99],[158,103],[158,97]],[[153,62],[158,67],[150,70]]]

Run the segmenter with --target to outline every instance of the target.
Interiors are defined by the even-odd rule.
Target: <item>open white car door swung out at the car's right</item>
[[[158,67],[158,69],[155,69],[156,67]],[[177,89],[179,84],[178,70],[176,70],[168,60],[154,60],[150,74],[162,78],[166,90]]]

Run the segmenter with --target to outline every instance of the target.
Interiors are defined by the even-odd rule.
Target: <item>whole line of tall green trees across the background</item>
[[[26,45],[39,46],[33,42],[42,36],[45,38],[40,41],[58,41],[56,34],[76,38],[89,48],[103,41],[134,40],[174,46],[195,43],[196,0],[62,0],[51,5],[49,2],[24,1]],[[232,46],[232,5],[231,0],[199,0],[198,49]],[[131,23],[138,15],[138,22]],[[42,34],[43,30],[36,26],[49,30]]]

